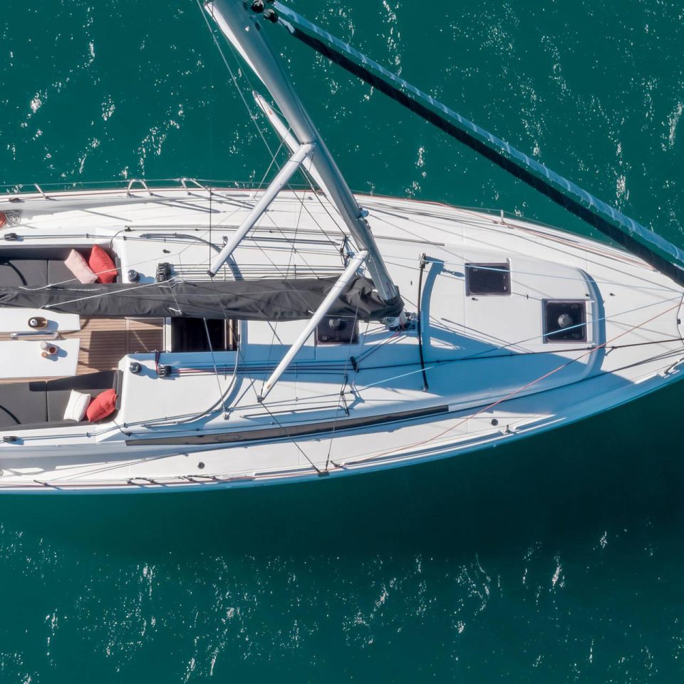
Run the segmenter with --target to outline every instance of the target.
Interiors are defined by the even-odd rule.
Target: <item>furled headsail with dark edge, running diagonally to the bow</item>
[[[507,142],[487,133],[288,7],[278,2],[275,7],[279,24],[299,41],[494,162],[684,286],[684,252],[680,248]]]

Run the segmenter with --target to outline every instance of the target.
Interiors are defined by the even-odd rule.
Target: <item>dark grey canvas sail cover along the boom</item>
[[[46,309],[79,316],[116,318],[239,318],[244,321],[297,321],[311,318],[336,277],[133,284],[0,287],[0,306]],[[355,276],[328,312],[380,321],[398,316],[400,296],[384,302],[373,283]]]

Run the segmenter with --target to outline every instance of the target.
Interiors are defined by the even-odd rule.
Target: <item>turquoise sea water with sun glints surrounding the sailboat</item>
[[[684,244],[681,4],[294,7]],[[0,26],[0,183],[261,180],[193,1],[11,2]],[[275,38],[356,189],[576,226]],[[338,481],[2,497],[0,682],[680,681],[682,398]]]

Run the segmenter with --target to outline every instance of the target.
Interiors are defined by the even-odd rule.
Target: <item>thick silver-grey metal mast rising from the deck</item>
[[[261,14],[259,14],[264,7],[263,2],[257,1],[253,5],[254,11],[249,9],[243,0],[215,0],[205,3],[204,8],[269,90],[299,141],[299,145],[313,145],[312,164],[358,248],[368,252],[366,266],[380,299],[388,303],[395,302],[400,299],[399,291],[390,278],[378,245],[375,243],[375,238],[365,218],[366,212],[358,206],[328,147],[323,142],[321,134],[316,130],[316,126],[304,109],[304,105],[299,100],[291,81],[281,68],[264,35],[260,21]],[[217,265],[218,261],[217,258],[212,264],[214,272],[214,266],[217,268],[221,266],[221,264]]]

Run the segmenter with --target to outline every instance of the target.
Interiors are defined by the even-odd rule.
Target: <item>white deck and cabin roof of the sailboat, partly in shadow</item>
[[[92,193],[66,198],[73,205],[62,212],[54,209],[61,200],[52,202],[49,212],[26,211],[26,227],[15,224],[12,230],[30,229],[33,239],[42,235],[46,244],[64,244],[60,234],[67,225],[71,236],[81,230],[113,247],[123,272],[138,269],[144,284],[154,279],[161,262],[177,277],[203,274],[212,253],[201,241],[220,244],[254,197],[214,192],[208,214],[209,197],[201,191],[189,196],[160,190],[133,199]],[[79,210],[81,201],[89,202],[87,212]],[[21,445],[0,445],[0,487],[48,486],[33,482],[40,480],[145,489],[388,467],[549,429],[678,377],[676,363],[684,356],[678,327],[682,292],[639,259],[520,219],[403,199],[361,197],[360,202],[370,212],[407,310],[421,311],[420,331],[413,326],[393,333],[375,323],[362,324],[356,345],[320,346],[312,339],[260,405],[259,388],[304,322],[243,323],[240,351],[212,356],[164,352],[156,323],[130,321],[124,335],[118,321],[117,339],[108,340],[108,323],[83,321],[77,334],[90,334],[92,360],[84,359],[90,365],[79,366],[79,372],[110,366],[118,354],[122,358],[123,403],[115,425],[91,428],[88,437],[54,431],[48,442],[61,445],[57,459],[47,455],[44,434],[34,439],[24,433]],[[44,200],[36,209],[41,204]],[[26,202],[24,209],[30,206]],[[245,277],[341,271],[338,249],[345,232],[328,209],[312,193],[284,193],[235,252],[238,268]],[[505,296],[467,294],[465,268],[483,261],[510,264],[511,291]],[[221,275],[234,277],[229,269]],[[583,302],[583,341],[544,343],[546,299]],[[142,336],[140,351],[148,353],[132,353],[135,335]],[[106,341],[101,354],[95,349],[98,337]],[[162,351],[158,359],[149,353],[156,348]],[[145,371],[128,373],[130,360]],[[174,369],[172,378],[157,378],[157,362]],[[204,412],[222,393],[225,413],[214,411],[190,425],[178,420]],[[403,418],[393,423],[387,418],[392,413]],[[316,424],[326,423],[338,431],[316,431]],[[293,437],[296,425],[301,436]],[[263,440],[236,442],[234,435],[249,430]],[[204,444],[187,439],[202,434],[209,440]],[[93,443],[98,463],[93,463]]]

